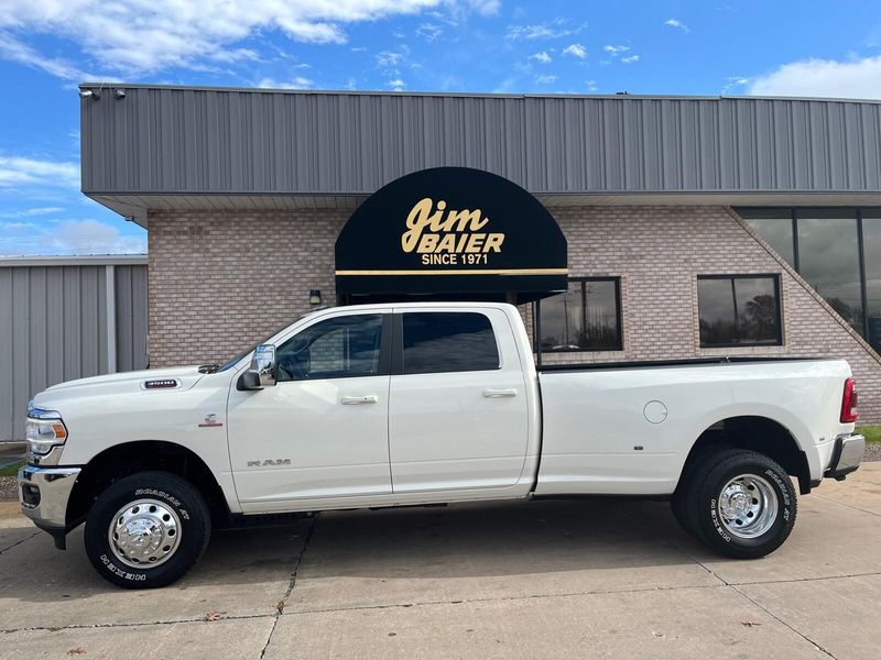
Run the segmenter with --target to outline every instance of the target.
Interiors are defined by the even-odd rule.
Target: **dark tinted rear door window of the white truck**
[[[482,314],[405,314],[403,328],[405,374],[499,369],[496,336]]]

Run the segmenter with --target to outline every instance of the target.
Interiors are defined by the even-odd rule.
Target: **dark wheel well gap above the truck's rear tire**
[[[766,417],[729,417],[714,424],[688,452],[685,469],[714,448],[750,449],[780,463],[786,474],[798,479],[803,495],[811,492],[811,468],[805,452],[792,433],[781,424]]]

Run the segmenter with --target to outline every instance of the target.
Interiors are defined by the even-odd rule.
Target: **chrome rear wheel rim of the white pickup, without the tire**
[[[762,536],[777,517],[777,494],[758,474],[741,474],[719,493],[717,509],[725,529],[741,539]]]

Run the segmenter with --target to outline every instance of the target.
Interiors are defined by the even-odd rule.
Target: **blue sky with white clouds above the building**
[[[79,193],[83,80],[881,99],[881,3],[4,0],[0,255],[143,252]]]

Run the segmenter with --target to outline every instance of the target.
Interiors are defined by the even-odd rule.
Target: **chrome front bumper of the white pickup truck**
[[[22,513],[40,529],[50,532],[64,548],[67,534],[67,501],[81,468],[39,468],[19,471],[19,502]]]

